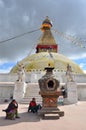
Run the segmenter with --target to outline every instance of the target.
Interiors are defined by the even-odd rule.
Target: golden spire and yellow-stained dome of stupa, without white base
[[[31,72],[33,70],[44,71],[44,68],[47,67],[48,64],[50,64],[51,67],[54,67],[58,72],[66,72],[67,65],[70,64],[72,72],[83,74],[83,70],[76,63],[58,53],[58,44],[56,44],[51,32],[51,27],[52,23],[49,18],[46,17],[41,26],[43,34],[36,46],[36,53],[25,57],[19,64],[24,64],[26,72]],[[12,68],[11,73],[16,73],[17,70],[18,65]]]

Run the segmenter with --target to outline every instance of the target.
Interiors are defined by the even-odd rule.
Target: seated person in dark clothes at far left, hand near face
[[[15,118],[19,118],[18,116],[18,103],[16,102],[15,99],[13,99],[7,109],[2,110],[4,112],[6,112],[6,119],[11,119],[14,120]]]

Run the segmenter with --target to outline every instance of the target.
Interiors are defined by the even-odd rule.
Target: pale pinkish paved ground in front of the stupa
[[[41,119],[37,114],[27,113],[28,105],[19,104],[20,119],[6,120],[0,104],[0,130],[86,130],[86,102],[60,106],[65,116],[60,119]]]

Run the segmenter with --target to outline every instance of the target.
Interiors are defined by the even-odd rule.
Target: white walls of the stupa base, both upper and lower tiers
[[[26,73],[25,82],[38,83],[38,79],[40,79],[44,74],[45,72],[42,71]],[[65,72],[54,72],[54,74],[61,84],[64,85],[66,83]],[[0,100],[10,99],[13,95],[14,84],[17,77],[17,74],[0,74]],[[86,100],[86,74],[74,75],[74,81],[77,83],[78,100]],[[23,92],[21,93],[21,95],[23,95]]]

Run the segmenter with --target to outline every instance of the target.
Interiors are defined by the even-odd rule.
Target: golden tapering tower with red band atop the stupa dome
[[[52,27],[52,23],[47,16],[41,26],[41,30],[42,30],[43,34],[36,47],[37,53],[46,52],[48,50],[50,52],[57,52],[58,45],[56,44],[55,39],[51,33],[51,27]]]

